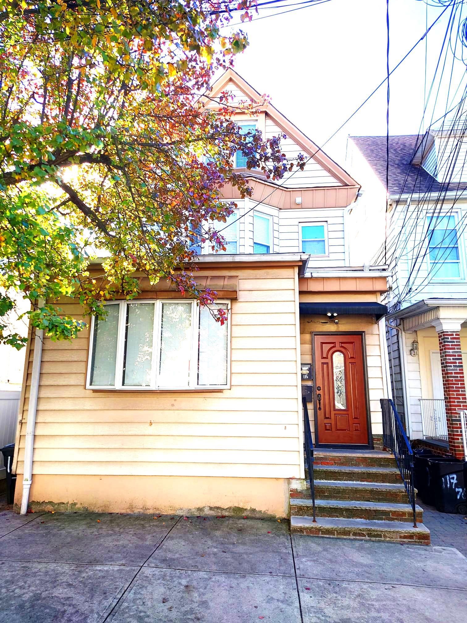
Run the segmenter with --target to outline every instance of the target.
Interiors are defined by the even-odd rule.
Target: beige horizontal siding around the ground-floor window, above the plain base
[[[209,271],[239,276],[232,389],[93,392],[85,389],[88,332],[71,343],[45,338],[33,474],[300,477],[295,273],[293,267]],[[81,311],[75,303],[60,307]],[[33,353],[34,346],[17,473]]]

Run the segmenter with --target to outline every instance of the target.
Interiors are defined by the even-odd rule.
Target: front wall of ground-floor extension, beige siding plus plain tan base
[[[231,301],[229,389],[86,389],[89,331],[72,342],[45,338],[33,508],[52,500],[52,506],[100,511],[187,513],[222,507],[286,515],[288,478],[303,477],[296,364],[300,257],[258,267],[255,262],[235,267],[225,259],[222,268],[198,274],[238,278]],[[165,298],[167,292],[143,295]],[[81,311],[73,302],[60,307],[64,313]],[[18,482],[33,356],[34,341],[27,354]],[[20,487],[17,495],[21,500]]]

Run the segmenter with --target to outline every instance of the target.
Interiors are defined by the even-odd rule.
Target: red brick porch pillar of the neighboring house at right
[[[459,412],[467,409],[461,340],[458,331],[440,331],[441,376],[445,394],[446,421],[448,424],[449,452],[458,459],[464,458],[461,418]]]

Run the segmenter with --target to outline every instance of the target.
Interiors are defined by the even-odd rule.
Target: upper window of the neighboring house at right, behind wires
[[[433,278],[458,279],[461,276],[456,218],[438,216],[428,220],[428,256]]]

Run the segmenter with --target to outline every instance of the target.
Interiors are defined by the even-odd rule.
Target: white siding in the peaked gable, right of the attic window
[[[279,128],[275,122],[268,116],[266,113],[266,137],[272,138],[273,136],[278,136],[283,134],[283,130]],[[285,153],[288,159],[296,159],[297,156],[302,153],[306,158],[309,158],[311,154],[304,153],[303,149],[300,148],[291,138],[283,138],[281,139],[281,151]],[[290,173],[286,173],[285,176],[281,179],[281,185],[286,188],[312,188],[314,186],[342,186],[341,182],[339,182],[336,178],[334,178],[331,173],[326,171],[321,164],[316,162],[316,160],[309,160],[304,167],[303,171],[297,169],[296,167]]]

